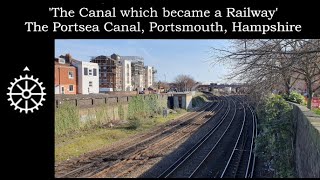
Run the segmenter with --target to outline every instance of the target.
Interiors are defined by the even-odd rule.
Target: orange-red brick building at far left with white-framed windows
[[[77,69],[64,57],[55,59],[54,87],[55,94],[77,94]]]

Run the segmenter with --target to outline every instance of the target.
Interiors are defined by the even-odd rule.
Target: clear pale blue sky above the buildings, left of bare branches
[[[145,65],[158,70],[157,79],[171,82],[179,74],[191,75],[202,83],[223,83],[228,73],[224,66],[210,67],[210,47],[226,48],[227,40],[109,40],[109,39],[58,39],[55,41],[55,57],[70,53],[81,61],[91,56],[113,53],[120,56],[142,56]]]

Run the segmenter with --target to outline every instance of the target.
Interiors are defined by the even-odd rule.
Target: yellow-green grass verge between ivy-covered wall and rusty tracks
[[[185,110],[179,110],[176,114],[170,113],[167,117],[155,116],[151,119],[145,119],[137,129],[130,129],[127,128],[127,126],[116,128],[97,127],[71,136],[56,137],[55,162],[59,163],[90,151],[108,147],[116,141],[121,141],[132,135],[150,131],[155,126],[175,119],[184,113],[186,113]]]

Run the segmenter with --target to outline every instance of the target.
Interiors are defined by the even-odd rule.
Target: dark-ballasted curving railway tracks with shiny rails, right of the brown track
[[[219,121],[221,123],[213,127],[158,178],[252,177],[255,158],[252,151],[256,133],[254,112],[239,98],[231,99],[231,102],[234,104],[234,111],[230,112],[230,108],[226,111],[226,114],[232,114],[231,120],[226,121],[228,118],[223,116]],[[251,116],[246,111],[250,111]],[[241,121],[241,118],[235,119],[236,114],[243,117]],[[221,125],[223,123],[224,126]],[[233,147],[232,152],[228,151],[229,147]],[[225,158],[229,156],[229,160]]]

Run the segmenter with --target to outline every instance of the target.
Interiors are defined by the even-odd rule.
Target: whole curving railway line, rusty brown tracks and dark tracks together
[[[93,158],[61,168],[57,177],[136,177],[131,175],[154,158],[164,157],[197,131],[205,131],[173,163],[157,171],[158,178],[252,178],[257,135],[253,108],[240,96],[212,96],[196,112],[165,124],[152,133],[123,142]],[[206,127],[206,128],[204,128]],[[154,167],[157,164],[153,165]],[[144,175],[139,174],[140,177]]]

